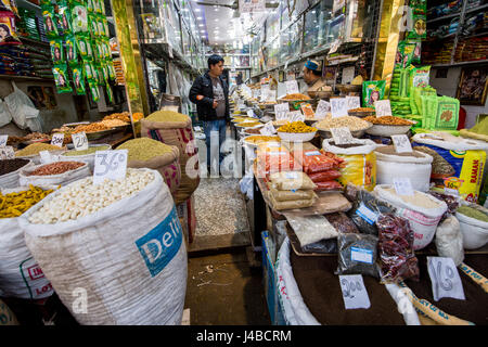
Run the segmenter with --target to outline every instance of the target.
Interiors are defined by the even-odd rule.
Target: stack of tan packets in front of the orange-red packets
[[[280,171],[270,175],[268,197],[274,210],[310,207],[318,198],[316,184],[305,172]]]

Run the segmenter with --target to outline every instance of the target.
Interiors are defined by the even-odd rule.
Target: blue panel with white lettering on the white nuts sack
[[[180,249],[181,224],[176,208],[153,230],[136,241],[151,277],[158,274]]]

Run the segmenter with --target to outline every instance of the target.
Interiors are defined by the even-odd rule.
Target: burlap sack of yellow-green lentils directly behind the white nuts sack
[[[153,157],[149,160],[130,160],[127,163],[127,167],[141,168],[146,167],[149,169],[159,171],[166,185],[168,185],[172,197],[178,191],[181,183],[181,168],[180,168],[180,151],[177,146],[171,145],[171,152]]]

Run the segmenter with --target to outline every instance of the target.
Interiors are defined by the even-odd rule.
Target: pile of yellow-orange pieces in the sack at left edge
[[[27,209],[36,205],[53,190],[42,190],[39,187],[29,185],[28,191],[2,194],[0,192],[0,218],[14,218],[22,216]]]

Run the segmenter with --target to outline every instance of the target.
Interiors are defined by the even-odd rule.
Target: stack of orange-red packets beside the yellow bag
[[[319,151],[308,142],[296,143],[292,145],[291,151],[304,172],[317,185],[316,192],[343,189],[336,179],[341,177],[339,169],[344,165],[344,159],[333,153]]]

